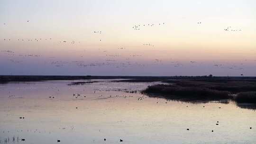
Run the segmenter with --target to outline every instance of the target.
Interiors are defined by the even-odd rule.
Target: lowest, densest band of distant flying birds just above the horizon
[[[151,45],[151,44],[148,44],[148,45]],[[125,47],[120,47],[119,49],[126,49]],[[10,50],[1,50],[0,53],[2,54],[6,54],[8,56],[18,56],[18,57],[21,57],[21,58],[26,58],[26,57],[41,57],[42,55],[39,55],[39,54],[16,54],[15,52],[13,51],[10,51]],[[145,66],[150,66],[150,65],[155,65],[155,64],[168,64],[170,66],[174,66],[175,67],[181,67],[181,66],[185,66],[185,65],[188,65],[188,63],[181,63],[179,61],[166,61],[166,60],[160,60],[160,59],[154,59],[152,60],[152,63],[138,63],[136,61],[132,61],[133,58],[135,57],[142,57],[143,55],[140,55],[140,54],[131,54],[131,55],[128,55],[126,56],[125,58],[120,55],[120,54],[106,54],[106,59],[102,62],[92,62],[92,63],[88,63],[87,61],[58,61],[58,60],[55,60],[55,57],[49,57],[50,59],[53,59],[52,61],[48,62],[48,61],[45,61],[45,64],[50,64],[50,65],[53,65],[55,67],[63,67],[63,66],[71,66],[71,65],[75,65],[75,66],[78,66],[78,67],[95,67],[95,66],[98,66],[98,67],[101,67],[101,66],[113,66],[115,68],[128,68],[128,67],[131,67],[131,66],[138,66],[138,67],[145,67]],[[81,56],[82,57],[82,56]],[[110,58],[112,59],[110,59]],[[122,57],[122,61],[120,60],[117,60],[116,58],[118,57]],[[11,63],[19,63],[19,64],[22,64],[24,62],[23,59],[19,60],[19,59],[14,59],[14,58],[9,58],[8,59],[9,62]],[[198,63],[196,61],[190,61],[189,63],[191,63],[192,65],[194,64],[201,64],[201,63]],[[230,70],[244,70],[244,64],[243,63],[240,63],[240,64],[229,64],[229,63],[226,63],[226,64],[223,64],[223,63],[215,63],[212,65],[212,67],[214,68],[226,68],[226,69],[230,69]]]

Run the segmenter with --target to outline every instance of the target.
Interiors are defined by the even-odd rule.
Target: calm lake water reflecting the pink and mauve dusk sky
[[[245,105],[149,98],[125,91],[154,83],[97,81],[0,84],[0,143],[256,144],[256,111]]]

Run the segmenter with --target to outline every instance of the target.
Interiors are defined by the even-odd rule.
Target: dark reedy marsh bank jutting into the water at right
[[[149,86],[142,93],[166,99],[222,100],[232,99],[238,103],[256,103],[255,79],[223,79],[223,81],[168,80],[171,84]]]

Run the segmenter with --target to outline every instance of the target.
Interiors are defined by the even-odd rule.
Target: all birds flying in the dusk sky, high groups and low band
[[[30,22],[29,20],[27,20],[27,22]],[[197,24],[201,25],[201,21],[197,22]],[[7,25],[7,23],[4,23],[4,25]],[[138,25],[134,25],[132,28],[134,30],[140,30],[142,27],[155,27],[155,26],[165,26],[166,23],[151,23],[151,24],[138,24]],[[231,27],[226,27],[224,29],[225,31],[241,31],[241,29],[233,29]],[[102,31],[98,30],[98,31],[93,31],[92,33],[94,34],[101,34]],[[4,41],[12,41],[10,38],[4,38]],[[53,38],[18,38],[17,41],[27,41],[27,42],[40,42],[40,41],[52,41],[54,42]],[[101,41],[102,39],[100,38],[99,41]],[[58,41],[59,43],[69,43],[69,44],[79,44],[80,41],[67,41],[67,40],[62,40],[62,41]],[[144,43],[143,45],[145,46],[152,46],[155,47],[155,45],[152,45],[150,43]],[[118,47],[117,49],[119,50],[126,50],[127,48],[122,46],[122,47]],[[99,48],[99,50],[101,50]],[[130,66],[141,66],[141,67],[145,67],[148,65],[152,65],[152,64],[167,64],[168,63],[174,63],[174,62],[165,62],[163,60],[161,61],[156,61],[154,60],[154,58],[152,59],[152,63],[148,64],[148,63],[141,63],[141,62],[135,62],[136,60],[134,59],[135,57],[141,57],[141,54],[130,54],[128,56],[123,56],[122,54],[108,54],[107,50],[103,50],[103,53],[107,53],[105,54],[106,60],[105,62],[95,62],[95,63],[88,63],[85,61],[73,61],[73,62],[65,62],[65,61],[59,61],[59,60],[55,60],[50,62],[49,64],[55,66],[55,67],[63,67],[65,65],[76,65],[78,67],[93,67],[93,66],[115,66],[116,68],[127,68]],[[10,50],[0,50],[0,53],[2,54],[7,54],[9,56],[19,56],[19,57],[40,57],[42,55],[40,54],[15,54],[13,51]],[[85,57],[84,55],[81,55],[80,57]],[[111,57],[113,59],[109,59],[108,57]],[[123,58],[123,60],[120,59],[115,59],[115,58]],[[51,59],[55,59],[55,57],[51,57]],[[15,58],[9,58],[8,59],[9,62],[11,63],[23,63],[23,60],[17,60]],[[121,62],[122,61],[122,62]],[[190,61],[191,64],[196,64],[196,61]],[[199,63],[197,63],[199,64]],[[185,66],[185,63],[181,63],[181,62],[175,62],[175,64],[169,64],[170,66],[175,67],[181,67],[181,66]],[[224,66],[224,64],[213,64],[213,67],[215,68],[228,68],[230,70],[243,70],[244,68],[242,67],[242,65],[232,65],[232,66]]]

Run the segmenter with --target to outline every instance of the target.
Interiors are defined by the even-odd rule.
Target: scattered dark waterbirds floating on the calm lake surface
[[[161,60],[157,60],[157,59],[156,59],[156,61],[161,61]],[[104,82],[104,81],[78,81],[77,84],[78,84],[78,85],[90,84],[90,87],[93,87],[93,86],[91,85],[91,83],[94,83],[94,82]],[[107,84],[106,84],[106,82],[107,82]],[[32,83],[27,82],[27,84],[32,84]],[[101,83],[100,83],[100,84],[101,84]],[[104,83],[103,83],[103,84],[104,84]],[[102,95],[102,94],[101,94],[101,95],[98,96],[99,98],[91,99],[91,100],[123,98],[123,99],[134,99],[134,100],[137,100],[137,101],[140,102],[140,101],[146,100],[146,99],[148,98],[146,95],[140,94],[140,88],[138,88],[137,86],[132,87],[132,85],[128,84],[129,87],[126,87],[127,85],[122,84],[122,83],[119,84],[119,87],[116,87],[116,86],[114,86],[114,85],[113,85],[113,86],[108,86],[108,84],[109,84],[108,81],[105,81],[105,84],[106,84],[106,86],[102,86],[102,87],[94,86],[94,89],[92,89],[91,92],[94,91],[94,93],[95,93],[95,91],[97,91],[97,92],[100,92],[100,93],[101,93],[101,91],[105,91],[105,92],[106,92],[106,91],[122,91],[122,92],[126,92],[126,93],[129,93],[129,94],[126,94],[126,93],[123,93],[122,95],[118,95],[118,94],[117,94],[117,95],[108,95],[108,94]],[[67,84],[67,85],[68,85],[68,86],[71,86],[71,87],[70,87],[70,90],[76,90],[76,91],[78,91],[76,86],[73,87],[73,84],[71,84],[71,85]],[[76,84],[75,84],[75,85],[76,85]],[[47,85],[47,86],[48,86],[48,85]],[[19,87],[18,90],[23,90],[23,88],[24,88],[25,90],[27,90],[26,86],[25,86],[25,87]],[[31,86],[28,86],[28,88],[32,89]],[[74,88],[74,89],[73,89],[73,88]],[[86,86],[83,86],[83,87],[80,87],[80,88],[82,88],[83,91],[85,91],[84,89],[86,89],[87,87],[86,87]],[[125,89],[121,89],[121,88],[125,88]],[[63,88],[63,89],[65,89],[65,88]],[[58,91],[60,91],[60,88],[54,86],[54,87],[48,87],[47,90],[58,90]],[[70,90],[69,90],[69,91],[70,91]],[[86,90],[86,91],[87,91],[87,90]],[[131,94],[131,93],[136,93],[136,95]],[[73,99],[90,99],[90,98],[87,98],[85,94],[82,94],[82,93],[81,93],[81,90],[80,90],[80,92],[73,92],[73,94],[71,93],[71,95],[68,96],[68,97],[69,97],[69,98],[73,98]],[[17,97],[16,97],[15,95],[11,95],[11,94],[9,95],[9,99],[16,99],[16,98],[17,98]],[[49,98],[49,100],[52,100],[52,99],[57,99],[58,97],[55,96],[55,95],[50,95],[50,96],[47,96],[46,99],[48,99],[48,98]],[[160,98],[156,98],[155,100],[156,100],[156,103],[157,103],[158,105],[160,105],[160,104],[161,104],[161,105],[162,105],[162,104],[166,105],[169,101],[171,101],[170,99],[166,99],[166,101],[163,101],[163,99],[160,100]],[[183,104],[183,102],[181,102],[181,104]],[[186,103],[186,104],[187,104],[187,103]],[[182,105],[182,106],[184,106],[185,108],[189,108],[187,105]],[[207,107],[206,107],[206,106],[202,106],[202,108],[207,108]],[[221,107],[217,107],[217,108],[221,108]],[[79,107],[76,106],[74,109],[79,110]],[[20,116],[20,117],[17,117],[17,118],[19,118],[21,121],[26,121],[26,117],[25,117],[25,116]],[[119,122],[119,121],[118,121],[118,122]],[[221,125],[221,122],[220,122],[220,121],[216,121],[215,125],[216,125],[216,126],[219,126],[219,125]],[[59,129],[65,130],[66,127],[60,127]],[[70,126],[70,129],[74,129],[74,126]],[[216,128],[216,129],[218,129],[218,128]],[[252,127],[248,127],[248,129],[252,129]],[[191,131],[191,130],[193,130],[193,129],[191,129],[190,127],[184,129],[184,131]],[[214,129],[210,129],[209,131],[210,131],[210,132],[214,132]],[[9,131],[2,131],[2,133],[5,133],[5,132],[10,133]],[[23,132],[23,130],[17,130],[17,132]],[[25,132],[25,131],[24,131],[24,132]],[[28,129],[27,129],[27,132],[46,133],[46,130],[38,130],[38,129],[35,129],[35,130],[28,130]],[[49,132],[49,134],[51,134],[51,132]],[[17,136],[17,137],[13,136],[11,139],[10,139],[9,137],[4,139],[4,143],[5,143],[5,144],[8,144],[8,143],[10,143],[10,142],[13,143],[13,142],[15,142],[15,141],[17,141],[17,143],[18,143],[18,142],[21,142],[21,141],[26,141],[26,139],[25,139],[25,138],[19,138],[18,136]],[[106,137],[103,137],[103,138],[102,138],[102,141],[107,141],[107,138],[106,138]],[[61,140],[60,140],[60,139],[57,139],[56,142],[59,143],[59,142],[61,142]],[[119,142],[124,142],[124,140],[123,140],[123,139],[119,139]],[[1,142],[0,142],[0,143],[1,143]]]

